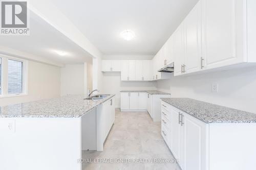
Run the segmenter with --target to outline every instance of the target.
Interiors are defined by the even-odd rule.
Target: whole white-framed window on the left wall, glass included
[[[26,94],[27,61],[5,55],[0,56],[0,97]]]

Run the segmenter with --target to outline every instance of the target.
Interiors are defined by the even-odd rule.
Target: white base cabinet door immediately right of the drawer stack
[[[171,113],[171,124],[170,130],[172,138],[170,139],[170,150],[172,151],[174,157],[179,159],[180,166],[182,168],[182,126],[179,124],[179,113],[180,111],[175,107],[170,107]]]

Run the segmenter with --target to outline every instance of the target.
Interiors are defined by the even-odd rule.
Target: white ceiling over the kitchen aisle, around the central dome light
[[[106,55],[154,55],[198,0],[52,0]],[[136,38],[125,41],[130,29]]]

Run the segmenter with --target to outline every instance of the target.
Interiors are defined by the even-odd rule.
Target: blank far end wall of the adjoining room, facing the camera
[[[86,87],[86,64],[66,64],[61,68],[60,94],[84,94]]]

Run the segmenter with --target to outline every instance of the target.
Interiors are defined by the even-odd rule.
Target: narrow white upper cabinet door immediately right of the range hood
[[[184,64],[184,23],[174,33],[174,76],[181,75],[181,66]]]

